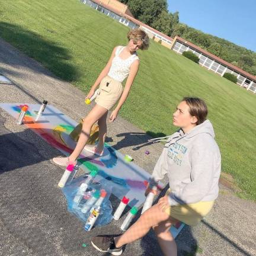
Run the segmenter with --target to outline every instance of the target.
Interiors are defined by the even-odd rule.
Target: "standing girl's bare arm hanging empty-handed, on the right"
[[[126,101],[126,98],[129,95],[130,88],[132,87],[133,81],[135,79],[135,76],[137,75],[138,70],[139,70],[139,60],[135,60],[130,66],[130,73],[126,80],[126,85],[124,86],[124,90],[119,100],[119,103],[117,104],[117,107],[113,110],[113,112],[110,115],[110,121],[114,121],[116,119],[121,106],[124,104],[124,101]]]

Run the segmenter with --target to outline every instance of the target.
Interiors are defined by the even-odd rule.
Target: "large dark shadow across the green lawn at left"
[[[48,32],[57,33],[55,31]],[[20,25],[5,22],[0,23],[0,37],[25,55],[40,62],[41,65],[52,71],[56,76],[59,76],[59,78],[69,82],[78,81],[80,74],[76,67],[71,64],[72,56],[69,50],[59,46],[58,43],[44,39],[39,34]],[[9,64],[13,66],[24,65],[38,73],[45,72],[43,69],[40,71],[38,66],[33,66],[27,62],[17,63],[15,60],[9,59]]]

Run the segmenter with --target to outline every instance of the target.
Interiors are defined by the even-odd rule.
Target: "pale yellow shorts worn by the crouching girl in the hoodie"
[[[167,190],[167,195],[171,190]],[[204,216],[206,216],[212,209],[214,201],[200,201],[193,204],[178,204],[177,206],[169,206],[165,209],[165,212],[174,217],[174,219],[180,220],[187,225],[194,226],[199,223]]]

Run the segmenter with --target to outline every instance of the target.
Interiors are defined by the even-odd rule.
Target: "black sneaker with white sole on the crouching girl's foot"
[[[116,248],[113,237],[94,236],[91,244],[94,248],[101,252],[108,252],[112,255],[121,255],[123,253],[122,248]]]

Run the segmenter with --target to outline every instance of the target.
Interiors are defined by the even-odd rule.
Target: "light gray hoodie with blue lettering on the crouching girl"
[[[151,184],[167,174],[169,204],[213,201],[219,193],[220,151],[209,120],[185,133],[179,130],[169,137],[153,169]]]

